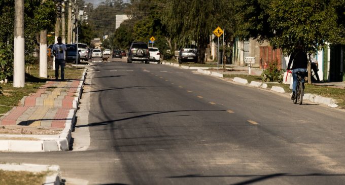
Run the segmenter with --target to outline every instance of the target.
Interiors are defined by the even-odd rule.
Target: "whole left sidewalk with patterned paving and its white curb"
[[[22,133],[28,129],[33,134],[0,134],[0,152],[68,150],[85,75],[86,69],[80,80],[47,81],[2,116],[0,127],[19,128]],[[51,130],[59,134],[45,134]]]

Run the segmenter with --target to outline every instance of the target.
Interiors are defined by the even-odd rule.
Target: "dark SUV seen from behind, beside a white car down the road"
[[[133,42],[130,45],[127,63],[132,63],[132,61],[141,61],[149,63],[150,52],[149,47],[144,42]]]

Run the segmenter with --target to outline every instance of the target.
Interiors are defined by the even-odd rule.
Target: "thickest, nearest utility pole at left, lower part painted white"
[[[13,87],[25,86],[24,0],[15,0]]]

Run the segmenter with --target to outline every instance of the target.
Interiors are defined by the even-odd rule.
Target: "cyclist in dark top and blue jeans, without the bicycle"
[[[290,66],[292,63],[292,96],[291,99],[295,99],[295,93],[296,93],[296,86],[297,86],[297,72],[305,72],[308,66],[308,58],[306,52],[303,51],[303,46],[298,45],[296,49],[291,53],[288,68],[287,70],[290,70]],[[304,78],[302,78],[302,83],[304,84]],[[304,86],[303,86],[304,87]]]

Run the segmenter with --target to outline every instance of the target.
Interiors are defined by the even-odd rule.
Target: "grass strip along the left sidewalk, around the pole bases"
[[[60,70],[59,70],[60,71]],[[66,63],[65,79],[81,79],[84,69],[76,69]],[[30,73],[25,73],[25,85],[22,88],[13,87],[13,81],[0,85],[0,116],[6,114],[12,107],[30,93],[36,92],[47,81],[55,79],[55,70],[48,69],[48,79],[40,78],[39,65],[30,65]]]

